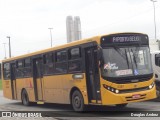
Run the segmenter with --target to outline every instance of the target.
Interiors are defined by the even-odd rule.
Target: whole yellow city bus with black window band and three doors
[[[3,93],[24,105],[125,107],[156,98],[149,38],[114,33],[2,61]]]

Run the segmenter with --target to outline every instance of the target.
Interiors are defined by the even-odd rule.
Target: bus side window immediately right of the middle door
[[[53,72],[54,72],[53,55],[54,54],[52,52],[46,53],[43,55],[44,75],[50,75],[50,74],[53,74]]]

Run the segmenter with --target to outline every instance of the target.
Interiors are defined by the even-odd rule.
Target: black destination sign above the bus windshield
[[[110,46],[114,44],[128,45],[128,44],[142,44],[148,45],[148,36],[144,34],[113,34],[103,36],[101,38],[102,46]]]

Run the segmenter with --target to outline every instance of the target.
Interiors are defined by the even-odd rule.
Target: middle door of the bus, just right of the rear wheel
[[[33,83],[35,100],[43,100],[43,59],[41,57],[33,59]]]

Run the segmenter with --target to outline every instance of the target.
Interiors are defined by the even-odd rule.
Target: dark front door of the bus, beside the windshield
[[[88,101],[89,103],[98,103],[101,100],[101,96],[96,47],[85,49],[85,65]]]

